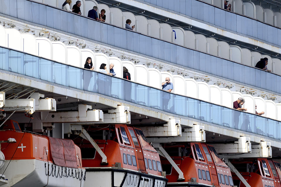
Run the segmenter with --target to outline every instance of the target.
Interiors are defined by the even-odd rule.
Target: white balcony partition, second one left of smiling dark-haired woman
[[[52,42],[53,45],[53,60],[66,64],[67,62],[67,49],[62,42]],[[84,66],[83,66],[84,67]]]

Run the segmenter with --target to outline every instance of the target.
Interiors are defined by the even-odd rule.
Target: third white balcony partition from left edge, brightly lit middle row
[[[23,52],[36,55],[36,38],[29,33],[20,33]]]

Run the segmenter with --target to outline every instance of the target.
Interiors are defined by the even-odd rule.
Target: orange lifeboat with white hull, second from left
[[[126,125],[84,126],[98,149],[107,158],[102,162],[99,150],[90,141],[74,140],[82,152],[82,164],[86,168],[85,187],[165,187],[158,152],[148,143],[140,129]],[[102,179],[102,180],[101,180]]]

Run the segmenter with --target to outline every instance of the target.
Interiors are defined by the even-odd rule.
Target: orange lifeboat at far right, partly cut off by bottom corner
[[[279,163],[266,158],[234,159],[233,166],[239,171],[250,186],[255,187],[280,187]],[[233,173],[234,184],[245,187],[238,176]]]

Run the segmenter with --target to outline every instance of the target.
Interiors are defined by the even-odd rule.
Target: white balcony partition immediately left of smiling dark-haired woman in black
[[[67,49],[67,64],[76,67],[82,67],[82,54],[78,47],[70,45]],[[83,63],[84,67],[85,62]]]

